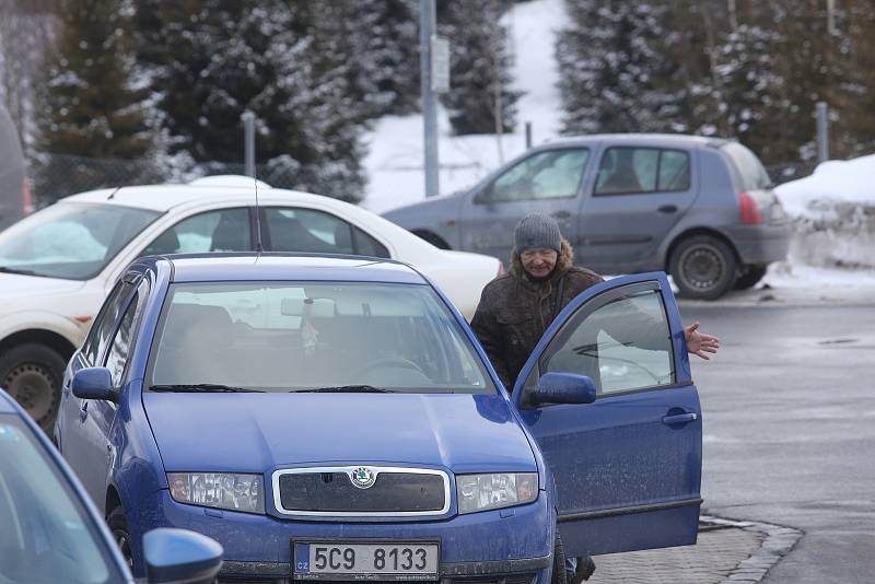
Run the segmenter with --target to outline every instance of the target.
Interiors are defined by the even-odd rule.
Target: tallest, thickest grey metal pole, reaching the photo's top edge
[[[422,121],[425,197],[440,194],[438,176],[438,103],[431,84],[431,37],[436,28],[434,0],[419,0],[419,68],[422,85]]]

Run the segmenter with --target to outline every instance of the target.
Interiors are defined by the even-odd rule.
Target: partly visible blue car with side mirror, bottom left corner
[[[222,548],[199,534],[144,538],[148,582],[210,584]],[[0,389],[0,582],[133,584],[103,517],[42,430]]]

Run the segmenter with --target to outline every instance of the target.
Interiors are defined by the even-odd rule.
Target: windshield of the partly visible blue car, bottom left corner
[[[24,422],[0,414],[0,583],[127,582],[110,545]]]

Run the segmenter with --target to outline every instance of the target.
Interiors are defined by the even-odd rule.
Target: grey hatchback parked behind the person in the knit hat
[[[681,295],[714,300],[786,256],[791,223],[771,187],[735,141],[599,135],[532,149],[470,190],[383,217],[439,247],[506,260],[514,225],[538,211],[556,218],[578,264],[665,270]]]

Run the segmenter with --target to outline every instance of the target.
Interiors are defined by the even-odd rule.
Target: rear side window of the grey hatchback
[[[681,150],[609,148],[602,156],[596,195],[689,190],[690,156]]]

